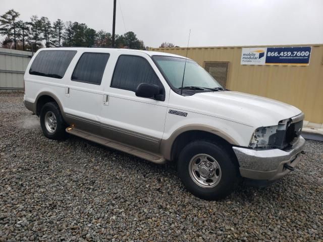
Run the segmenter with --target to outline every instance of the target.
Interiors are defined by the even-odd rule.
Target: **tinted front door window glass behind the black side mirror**
[[[163,87],[146,59],[133,55],[120,55],[111,86],[136,91],[140,83],[156,84]]]

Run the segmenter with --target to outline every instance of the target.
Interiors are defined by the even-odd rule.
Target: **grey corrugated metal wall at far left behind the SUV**
[[[32,52],[0,48],[0,90],[24,90],[24,73]]]

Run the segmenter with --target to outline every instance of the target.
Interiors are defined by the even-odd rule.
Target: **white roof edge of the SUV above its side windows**
[[[88,47],[60,47],[60,48],[41,48],[39,49],[40,51],[43,50],[82,50],[86,52],[101,52],[101,53],[113,53],[113,52],[141,52],[141,53],[146,53],[149,56],[152,55],[165,55],[165,56],[174,56],[174,57],[181,57],[185,58],[182,55],[178,54],[171,54],[171,53],[165,53],[165,52],[157,52],[157,51],[148,51],[148,50],[140,50],[140,49],[118,49],[118,48],[100,48],[100,47],[93,47],[93,48],[88,48]],[[189,59],[189,58],[188,58]]]

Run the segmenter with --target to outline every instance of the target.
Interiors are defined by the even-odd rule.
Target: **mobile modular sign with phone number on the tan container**
[[[311,46],[242,48],[241,65],[308,66]]]

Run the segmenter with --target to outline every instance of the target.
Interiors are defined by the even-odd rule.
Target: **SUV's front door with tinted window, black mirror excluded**
[[[110,86],[103,87],[101,131],[110,139],[157,153],[163,137],[169,87],[145,53],[121,54]],[[164,101],[137,97],[139,84],[160,87]]]

